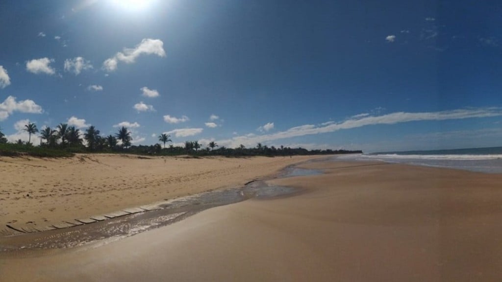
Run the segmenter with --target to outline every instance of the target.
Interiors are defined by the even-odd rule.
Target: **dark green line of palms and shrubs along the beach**
[[[37,125],[31,122],[25,125],[25,129],[29,133],[28,142],[24,143],[18,140],[15,143],[8,143],[5,134],[0,128],[0,156],[34,156],[46,158],[61,158],[70,157],[75,153],[128,153],[138,155],[156,155],[156,156],[179,156],[190,155],[194,157],[202,156],[226,156],[226,157],[244,157],[244,156],[295,156],[295,155],[331,155],[331,154],[350,154],[362,153],[361,151],[347,150],[307,150],[303,148],[289,148],[281,146],[268,147],[258,143],[254,148],[246,148],[240,145],[235,149],[218,146],[212,141],[207,144],[207,147],[202,149],[203,144],[198,140],[186,141],[184,147],[169,145],[166,148],[166,143],[172,142],[170,135],[163,133],[159,135],[159,142],[164,144],[164,148],[160,144],[151,146],[133,146],[131,142],[133,137],[131,131],[127,127],[122,126],[118,129],[115,135],[101,136],[99,130],[93,125],[89,126],[84,133],[80,132],[75,126],[68,126],[66,123],[60,123],[56,129],[44,127],[40,131],[40,146],[35,147],[31,144],[31,135],[39,132]],[[83,137],[83,138],[82,138]],[[85,145],[84,145],[85,140]],[[44,141],[44,142],[42,142]],[[217,149],[215,149],[217,148]]]

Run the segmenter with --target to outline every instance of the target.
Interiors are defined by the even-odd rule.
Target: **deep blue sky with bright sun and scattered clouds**
[[[0,3],[0,127],[365,152],[502,146],[502,5]]]

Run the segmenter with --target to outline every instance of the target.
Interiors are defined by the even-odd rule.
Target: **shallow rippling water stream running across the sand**
[[[321,172],[288,167],[278,178],[317,174],[321,174]],[[284,197],[295,192],[298,190],[291,187],[270,186],[264,181],[253,181],[240,188],[208,191],[174,199],[161,204],[159,210],[129,214],[64,229],[2,237],[0,238],[0,254],[27,255],[42,250],[86,245],[99,240],[103,242],[114,241],[166,226],[212,207],[233,204],[251,198]]]

